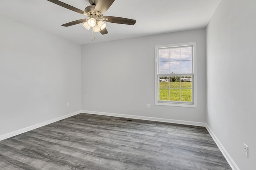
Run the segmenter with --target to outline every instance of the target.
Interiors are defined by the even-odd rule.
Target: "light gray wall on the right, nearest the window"
[[[207,27],[207,123],[241,170],[256,167],[255,8],[222,0]]]

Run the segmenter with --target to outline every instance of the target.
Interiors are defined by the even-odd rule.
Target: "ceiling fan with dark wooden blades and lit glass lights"
[[[68,27],[71,25],[76,25],[78,23],[84,22],[84,27],[86,29],[93,28],[94,32],[100,32],[101,34],[107,34],[108,31],[106,29],[106,22],[112,22],[112,23],[121,23],[121,24],[127,24],[127,25],[134,25],[136,23],[136,20],[128,19],[128,18],[121,18],[121,17],[113,17],[113,16],[103,16],[103,14],[108,10],[108,8],[112,5],[112,3],[115,0],[89,0],[90,6],[87,6],[84,11],[79,10],[78,8],[75,8],[73,6],[70,6],[68,4],[65,4],[64,2],[61,2],[59,0],[48,0],[54,4],[57,4],[59,6],[62,6],[64,8],[67,8],[69,10],[72,10],[74,12],[77,12],[79,14],[84,14],[89,19],[81,19],[72,21],[69,23],[65,23],[62,26]]]

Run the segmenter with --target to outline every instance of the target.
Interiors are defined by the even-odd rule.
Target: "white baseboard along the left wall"
[[[13,131],[13,132],[10,132],[10,133],[6,133],[4,135],[0,135],[0,141],[4,140],[4,139],[7,139],[7,138],[10,138],[10,137],[14,137],[16,135],[20,135],[22,133],[25,133],[27,131],[31,131],[33,129],[36,129],[38,127],[42,127],[42,126],[45,126],[45,125],[48,125],[50,123],[54,123],[56,121],[60,121],[62,119],[66,119],[68,117],[71,117],[71,116],[74,116],[74,115],[77,115],[79,113],[82,113],[82,111],[76,111],[74,113],[70,113],[70,114],[67,114],[67,115],[64,115],[64,116],[60,116],[60,117],[57,117],[57,118],[54,118],[54,119],[51,119],[51,120],[48,120],[48,121],[44,121],[42,123],[38,123],[36,125],[32,125],[32,126],[29,126],[29,127],[25,127],[23,129],[19,129],[17,131]]]

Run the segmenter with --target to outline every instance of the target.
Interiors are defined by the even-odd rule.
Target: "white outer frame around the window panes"
[[[176,102],[159,100],[158,49],[192,46],[192,102]],[[197,74],[196,74],[196,42],[155,46],[155,105],[197,107]],[[170,74],[169,74],[170,75]],[[172,74],[173,76],[173,74]]]

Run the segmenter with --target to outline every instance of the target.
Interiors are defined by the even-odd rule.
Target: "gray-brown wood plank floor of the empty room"
[[[84,113],[0,141],[0,169],[231,170],[205,127]]]

